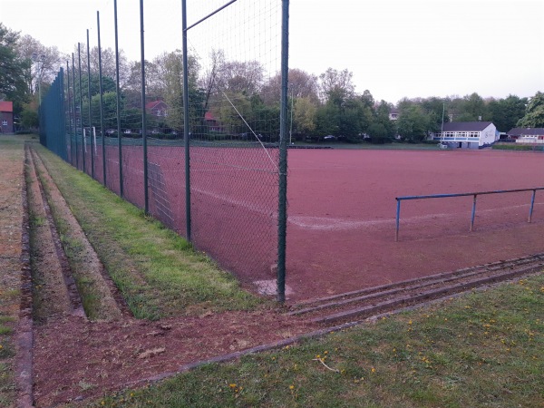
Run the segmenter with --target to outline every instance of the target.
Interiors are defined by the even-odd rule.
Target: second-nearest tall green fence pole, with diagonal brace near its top
[[[181,29],[183,53],[183,144],[185,146],[185,221],[187,240],[191,240],[190,219],[190,143],[189,143],[189,68],[187,56],[187,2],[181,0]]]

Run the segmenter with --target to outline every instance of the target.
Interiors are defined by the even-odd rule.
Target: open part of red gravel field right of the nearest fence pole
[[[510,151],[289,151],[291,300],[542,252],[544,191],[403,201],[395,197],[544,186],[544,154]]]

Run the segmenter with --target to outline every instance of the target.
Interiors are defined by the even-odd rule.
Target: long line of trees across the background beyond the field
[[[91,74],[87,73],[87,53],[81,53],[82,105],[92,123],[100,123],[98,49],[90,53]],[[76,75],[79,67],[77,46]],[[46,92],[60,66],[72,70],[72,60],[56,47],[46,47],[30,35],[21,35],[0,23],[0,98],[15,102],[15,115],[24,127],[37,126],[37,90]],[[183,124],[182,54],[162,53],[145,62],[146,99],[161,100],[168,106],[160,117],[150,116],[149,126],[180,131]],[[231,61],[214,50],[204,66],[189,57],[189,123],[196,135],[262,137],[276,141],[279,134],[281,77],[269,75],[257,61]],[[73,73],[72,73],[73,74]],[[102,50],[102,111],[106,128],[116,128],[115,53]],[[91,83],[91,98],[88,86]],[[121,126],[141,127],[141,63],[130,62],[120,53]],[[393,105],[375,101],[368,90],[356,92],[353,73],[328,68],[315,75],[298,68],[288,75],[288,121],[292,140],[320,141],[325,136],[347,142],[423,141],[440,131],[447,121],[492,121],[499,131],[516,126],[544,127],[544,95],[531,98],[509,95],[483,99],[478,93],[465,96],[414,98]],[[79,81],[73,89],[79,97]],[[394,112],[397,120],[392,121]],[[208,113],[208,116],[207,116]],[[88,126],[87,115],[82,113]],[[209,121],[215,126],[210,128]]]

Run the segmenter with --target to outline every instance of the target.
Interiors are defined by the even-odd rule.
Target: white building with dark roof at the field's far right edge
[[[452,121],[443,124],[442,131],[434,133],[432,139],[449,147],[480,149],[490,146],[499,138],[497,128],[491,121]]]

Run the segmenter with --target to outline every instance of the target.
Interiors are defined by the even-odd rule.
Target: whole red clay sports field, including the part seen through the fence
[[[116,192],[117,155],[107,147],[108,186]],[[101,156],[99,147],[98,180]],[[182,235],[183,157],[182,147],[149,153],[151,213]],[[195,245],[248,287],[274,278],[275,160],[274,149],[191,148]],[[544,191],[530,224],[531,192],[479,197],[472,232],[471,197],[403,201],[394,240],[396,197],[544,187],[541,152],[289,150],[288,168],[291,301],[544,252]],[[141,146],[123,146],[123,173],[125,197],[142,207]]]

